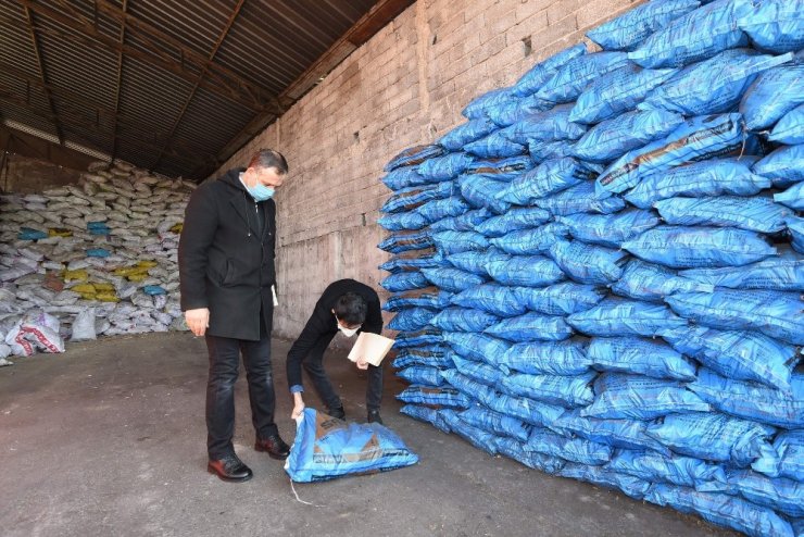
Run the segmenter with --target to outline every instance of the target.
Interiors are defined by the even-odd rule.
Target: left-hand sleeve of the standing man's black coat
[[[217,229],[217,210],[209,188],[201,187],[190,197],[178,242],[178,273],[181,310],[209,308],[206,263]]]

